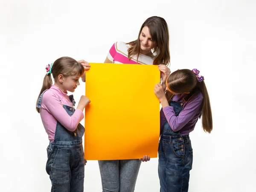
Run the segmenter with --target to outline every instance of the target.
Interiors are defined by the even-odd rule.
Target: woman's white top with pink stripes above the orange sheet
[[[140,54],[137,62],[137,55],[133,55],[131,60],[129,61],[128,59],[128,49],[130,45],[118,41],[113,46],[108,52],[108,59],[112,61],[113,63],[121,63],[121,64],[147,64],[147,65],[152,65],[153,64],[153,58],[142,55]]]

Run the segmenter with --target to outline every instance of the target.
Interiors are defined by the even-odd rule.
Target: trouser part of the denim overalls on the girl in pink
[[[74,144],[75,142],[73,142]],[[84,149],[82,141],[76,145],[47,147],[46,172],[52,181],[52,192],[84,191]]]

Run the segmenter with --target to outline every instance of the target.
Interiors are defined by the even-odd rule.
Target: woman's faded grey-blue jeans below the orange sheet
[[[134,192],[141,161],[99,160],[102,192]]]

